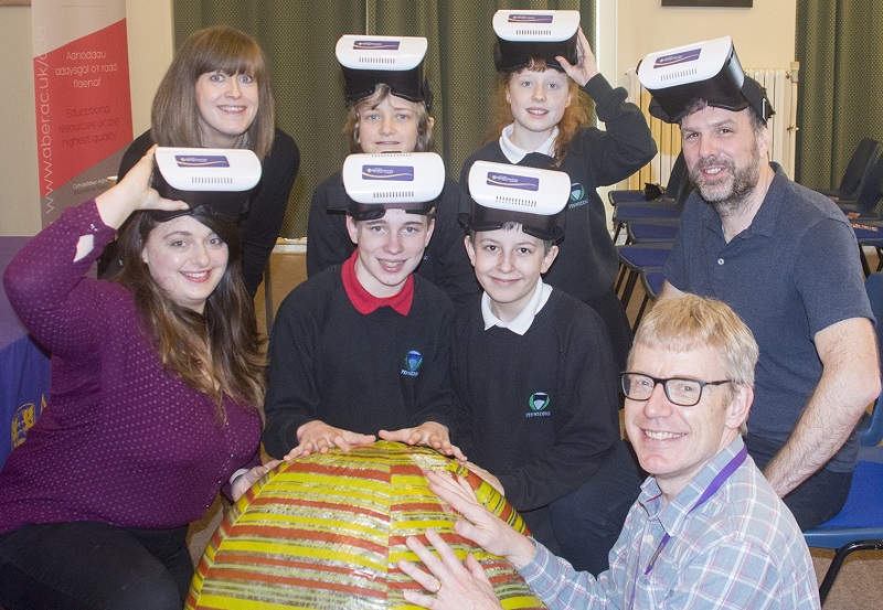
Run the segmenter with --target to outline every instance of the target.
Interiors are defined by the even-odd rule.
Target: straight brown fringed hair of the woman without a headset
[[[153,97],[151,136],[159,146],[202,147],[196,81],[209,72],[248,74],[257,83],[258,105],[246,131],[247,147],[262,161],[275,136],[273,90],[267,61],[257,41],[233,28],[198,30],[183,42]]]

